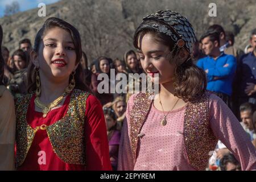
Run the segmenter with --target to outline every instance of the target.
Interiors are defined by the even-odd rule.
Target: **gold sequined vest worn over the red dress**
[[[85,164],[84,119],[86,99],[89,93],[73,90],[67,114],[49,126],[33,129],[26,120],[32,94],[20,97],[15,102],[16,110],[16,167],[22,165],[38,130],[46,130],[56,155],[69,164]]]

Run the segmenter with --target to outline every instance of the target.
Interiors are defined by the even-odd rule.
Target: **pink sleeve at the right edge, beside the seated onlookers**
[[[240,122],[221,98],[210,95],[210,127],[240,161],[242,170],[256,169],[256,150]]]

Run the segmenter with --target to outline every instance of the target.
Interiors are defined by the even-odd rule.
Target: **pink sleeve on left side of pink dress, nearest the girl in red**
[[[133,94],[129,98],[125,119],[123,121],[122,134],[118,152],[118,171],[133,171],[134,169],[133,155],[130,145],[130,111],[133,107],[134,96],[135,94]]]

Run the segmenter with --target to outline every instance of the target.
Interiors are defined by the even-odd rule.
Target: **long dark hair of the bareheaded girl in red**
[[[42,28],[40,28],[40,30],[36,34],[34,51],[35,52],[39,51],[40,44],[42,43],[43,37],[46,35],[46,32],[51,30],[51,28],[54,28],[54,27],[63,28],[64,30],[68,31],[73,40],[73,43],[75,46],[75,52],[76,52],[76,64],[79,64],[75,74],[75,81],[76,81],[75,88],[90,92],[90,89],[84,83],[84,80],[85,80],[84,72],[82,71],[82,65],[80,63],[80,60],[82,58],[80,34],[79,34],[79,31],[75,27],[73,27],[71,24],[59,18],[55,18],[55,17],[48,18],[46,22],[44,22]],[[27,74],[28,92],[30,93],[36,90],[36,74],[35,74],[34,68],[35,68],[35,65],[32,64],[32,61],[31,61],[31,63],[28,65],[28,74]],[[72,77],[70,76],[69,81],[71,81],[71,79]]]

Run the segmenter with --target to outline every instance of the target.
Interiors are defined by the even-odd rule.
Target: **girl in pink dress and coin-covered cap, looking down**
[[[119,170],[202,170],[220,139],[241,163],[256,169],[256,152],[229,107],[208,92],[192,63],[195,33],[187,18],[158,11],[134,35],[141,64],[159,94],[130,97],[119,146]],[[158,75],[156,75],[158,73]]]

